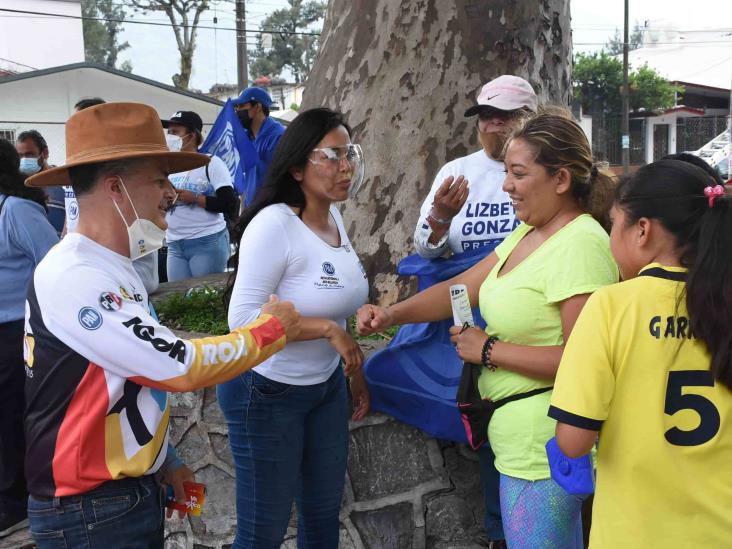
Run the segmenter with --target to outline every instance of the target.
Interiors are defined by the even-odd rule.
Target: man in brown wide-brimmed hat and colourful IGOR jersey
[[[169,151],[153,108],[107,103],[68,120],[64,166],[26,181],[70,184],[80,209],[28,288],[26,477],[39,549],[163,547],[159,479],[179,502],[192,479],[168,451],[166,392],[231,379],[299,332],[293,306],[274,296],[225,336],[180,339],[149,315],[132,260],[162,243],[168,174],[208,161]]]

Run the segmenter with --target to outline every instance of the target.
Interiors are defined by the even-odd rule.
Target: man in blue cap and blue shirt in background
[[[262,88],[245,89],[232,104],[257,152],[256,164],[244,168],[244,203],[249,205],[264,182],[275,147],[285,132],[285,127],[270,118],[272,98]]]

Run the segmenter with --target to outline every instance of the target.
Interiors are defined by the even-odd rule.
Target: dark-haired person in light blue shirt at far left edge
[[[27,525],[23,459],[23,316],[33,269],[58,236],[43,189],[23,185],[13,144],[0,139],[0,538]]]

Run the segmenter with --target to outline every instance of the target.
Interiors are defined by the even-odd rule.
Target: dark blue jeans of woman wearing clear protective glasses
[[[217,388],[236,466],[233,549],[279,548],[297,503],[299,549],[336,549],[348,455],[341,368],[315,385],[250,371]]]

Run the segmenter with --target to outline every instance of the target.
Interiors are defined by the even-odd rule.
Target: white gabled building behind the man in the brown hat
[[[176,111],[194,111],[203,119],[204,134],[223,106],[211,97],[128,72],[75,63],[0,77],[0,137],[14,141],[20,132],[36,129],[48,142],[50,163],[63,164],[64,125],[73,114],[74,104],[85,97],[146,103],[162,119],[170,118]]]

